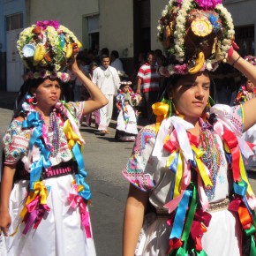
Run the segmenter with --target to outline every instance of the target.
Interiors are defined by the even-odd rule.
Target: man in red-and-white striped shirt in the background
[[[147,121],[152,121],[151,106],[157,101],[160,76],[155,65],[154,52],[147,53],[147,63],[139,68],[137,94],[141,94],[146,104]]]

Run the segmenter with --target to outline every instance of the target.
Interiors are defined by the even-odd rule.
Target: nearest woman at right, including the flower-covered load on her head
[[[210,72],[223,60],[256,83],[256,67],[237,53],[230,13],[218,0],[173,0],[159,39],[169,64],[156,123],[142,128],[123,169],[131,183],[123,256],[255,255],[256,198],[245,172],[256,98],[210,108]],[[217,48],[217,49],[216,49]],[[195,60],[195,61],[194,61]]]

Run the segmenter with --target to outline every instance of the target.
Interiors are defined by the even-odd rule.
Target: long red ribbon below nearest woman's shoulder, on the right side
[[[230,148],[230,153],[232,155],[232,169],[234,181],[241,181],[239,168],[240,150],[238,147],[237,137],[234,132],[225,130],[223,134],[223,139]]]

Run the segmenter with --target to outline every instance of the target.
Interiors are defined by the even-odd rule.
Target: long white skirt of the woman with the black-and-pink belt
[[[24,223],[13,237],[6,237],[8,256],[94,256],[93,238],[87,238],[81,226],[79,208],[72,209],[67,196],[72,189],[72,175],[44,180],[50,186],[45,214],[36,230],[22,234]],[[19,224],[19,213],[24,207],[28,181],[14,184],[10,198],[11,227],[9,234]]]

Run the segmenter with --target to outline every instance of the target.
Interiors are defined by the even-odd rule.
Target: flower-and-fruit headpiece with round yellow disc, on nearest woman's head
[[[170,60],[160,68],[164,76],[215,71],[235,35],[222,0],[169,0],[157,29]]]

